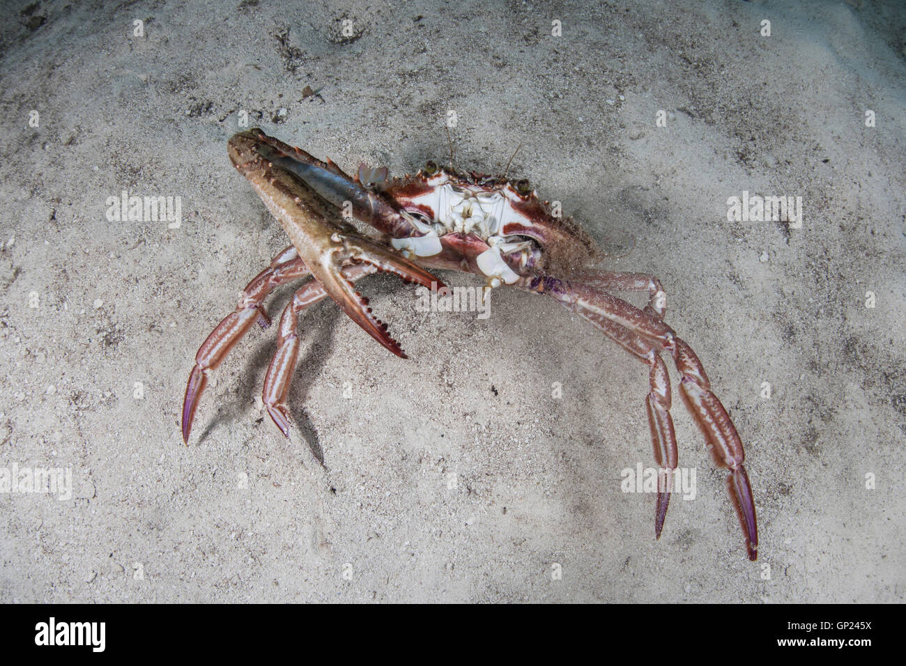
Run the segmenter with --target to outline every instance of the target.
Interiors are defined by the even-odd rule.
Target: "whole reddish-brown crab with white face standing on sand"
[[[292,245],[246,285],[236,310],[198,349],[183,402],[185,442],[208,372],[255,322],[269,325],[263,302],[275,287],[307,278],[280,318],[262,396],[271,419],[288,437],[291,418],[286,401],[299,353],[298,318],[306,307],[330,296],[378,343],[406,358],[355,283],[381,271],[429,289],[445,289],[427,269],[464,271],[483,277],[486,289],[510,285],[551,296],[648,366],[645,408],[659,467],[657,538],[678,463],[670,377],[663,360],[669,354],[679,372],[680,395],[711,457],[718,468],[728,470],[728,492],[747,555],[757,559],[755,502],[743,465],[742,440],[711,391],[699,357],[664,322],[666,296],[658,278],[595,269],[602,252],[592,237],[571,219],[557,215],[557,209],[539,199],[525,180],[441,169],[433,162],[405,178],[389,179],[386,169],[364,164],[350,177],[330,159],[315,159],[259,129],[236,133],[227,142],[227,152]],[[352,218],[367,231],[354,226]],[[611,292],[647,292],[648,304],[638,308]]]

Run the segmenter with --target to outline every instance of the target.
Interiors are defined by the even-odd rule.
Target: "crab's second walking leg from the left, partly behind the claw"
[[[350,265],[342,269],[342,276],[354,282],[365,275],[376,273],[379,269],[371,264]],[[262,400],[267,413],[271,415],[276,427],[289,437],[291,423],[289,410],[286,409],[286,398],[289,396],[290,383],[293,380],[296,361],[299,357],[299,314],[309,305],[315,304],[327,295],[323,285],[311,280],[303,285],[284,308],[280,317],[280,332],[277,337],[277,351],[267,367],[265,388]],[[366,301],[367,303],[367,301]],[[371,308],[368,308],[371,311]]]

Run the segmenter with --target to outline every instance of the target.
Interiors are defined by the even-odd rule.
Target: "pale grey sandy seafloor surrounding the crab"
[[[0,601],[903,600],[899,3],[11,5],[0,467],[69,468],[72,497],[0,494]],[[369,278],[409,361],[313,307],[291,439],[261,410],[275,330],[255,329],[183,446],[198,345],[287,244],[226,158],[239,111],[399,175],[448,159],[451,110],[459,166],[500,171],[522,144],[511,173],[605,267],[660,276],[746,444],[756,564],[672,364],[698,494],[655,541],[653,497],[620,486],[653,465],[645,366],[512,289],[479,320]],[[181,226],[109,221],[123,189],[181,197]],[[803,197],[801,228],[728,221],[743,190]]]

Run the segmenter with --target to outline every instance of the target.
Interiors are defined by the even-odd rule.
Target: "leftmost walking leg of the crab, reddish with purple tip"
[[[224,320],[207,336],[207,340],[198,348],[195,355],[195,367],[188,375],[186,397],[182,403],[182,439],[188,444],[188,434],[192,430],[192,420],[198,401],[207,386],[207,372],[214,370],[226,358],[236,343],[257,321],[262,327],[270,325],[262,302],[278,285],[283,285],[304,275],[309,275],[294,246],[285,247],[274,257],[271,265],[263,270],[246,285],[236,310],[227,314]]]

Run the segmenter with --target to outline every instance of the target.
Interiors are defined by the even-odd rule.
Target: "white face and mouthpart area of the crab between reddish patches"
[[[474,234],[490,247],[477,256],[477,265],[488,277],[488,285],[512,285],[519,275],[506,263],[501,253],[518,251],[529,246],[519,236],[500,236],[499,231],[510,222],[531,224],[511,205],[510,197],[518,196],[509,185],[500,189],[487,189],[479,185],[454,185],[444,171],[428,180],[431,189],[414,197],[411,202],[434,211],[431,223],[414,216],[410,222],[424,236],[393,238],[390,243],[406,256],[434,256],[442,246],[440,236],[450,233]],[[509,195],[509,196],[507,196]]]

